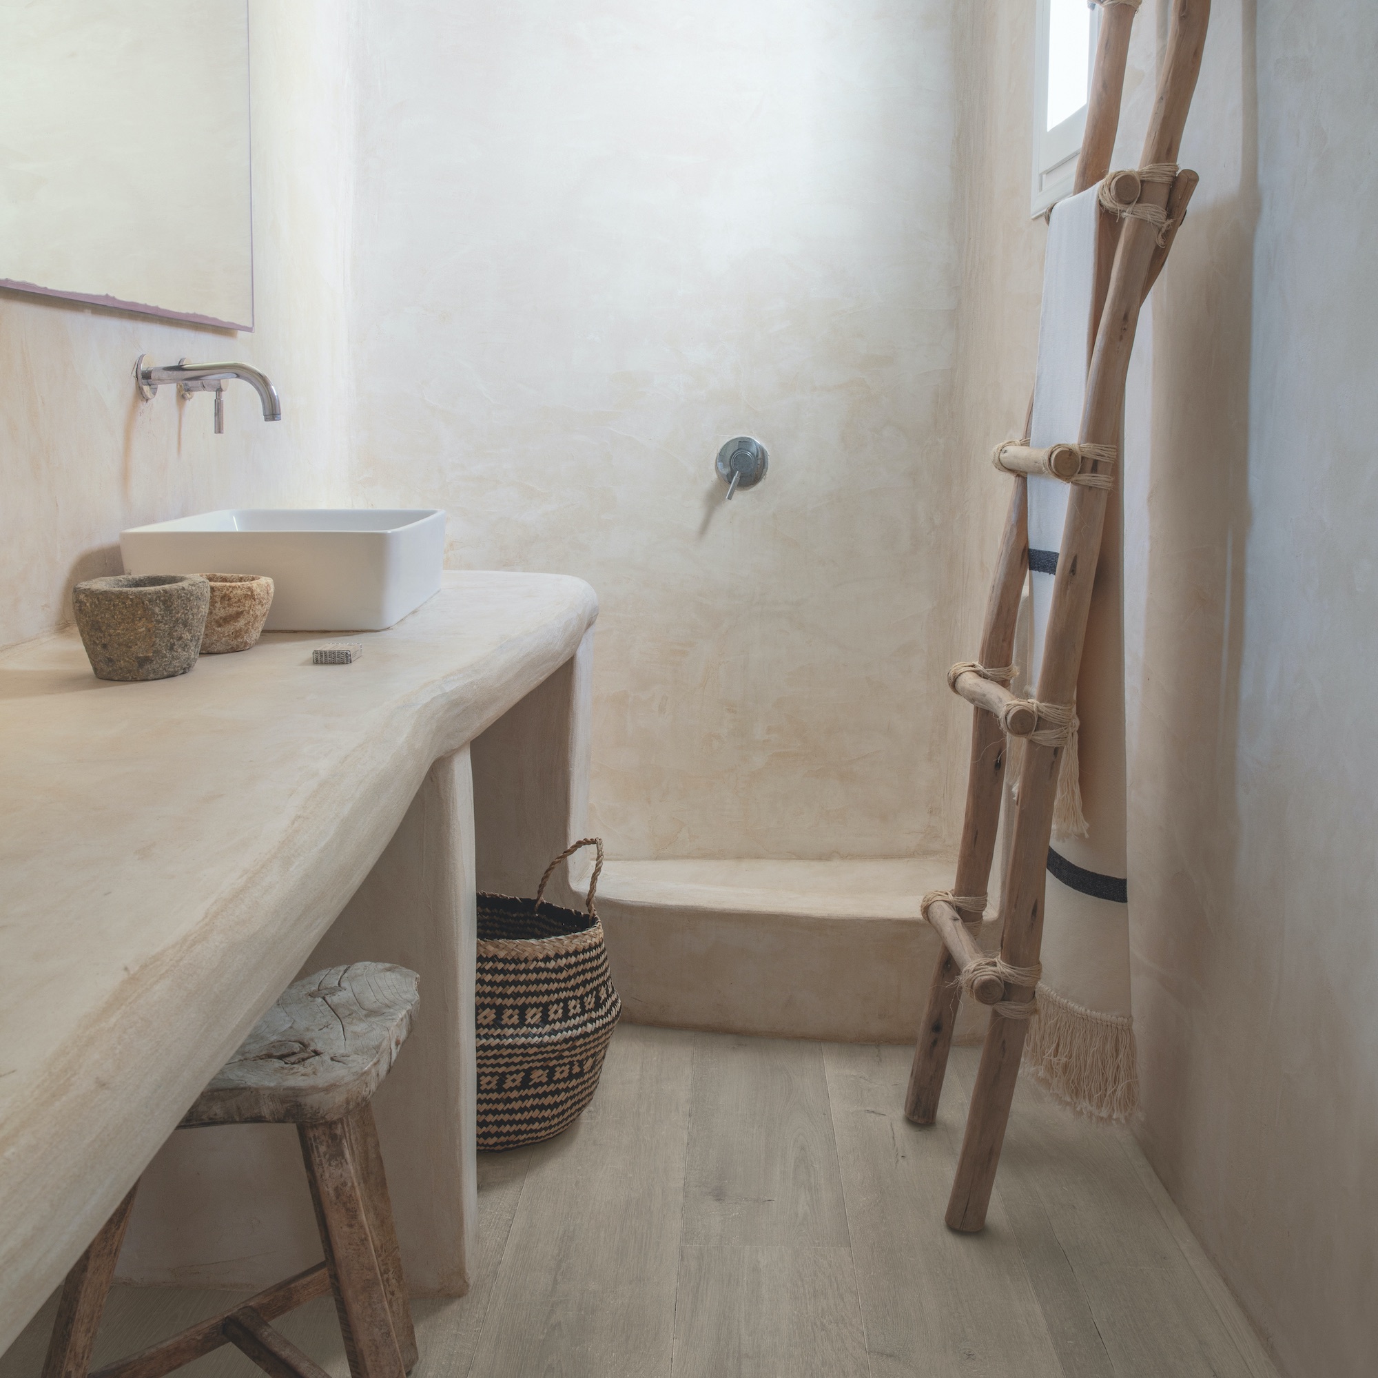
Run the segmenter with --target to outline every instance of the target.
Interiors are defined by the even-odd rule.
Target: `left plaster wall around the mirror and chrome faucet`
[[[347,496],[347,30],[328,0],[255,0],[249,36],[254,333],[0,292],[0,645],[70,620],[72,584],[120,570],[124,526]],[[225,435],[209,397],[141,405],[141,353],[256,364],[282,420],[265,424],[240,384]]]

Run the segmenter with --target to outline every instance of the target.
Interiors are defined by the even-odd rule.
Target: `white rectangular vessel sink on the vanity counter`
[[[256,507],[120,532],[127,575],[269,575],[267,631],[382,631],[440,588],[438,508]]]

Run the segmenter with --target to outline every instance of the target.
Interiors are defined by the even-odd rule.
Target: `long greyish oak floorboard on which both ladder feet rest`
[[[985,1231],[943,1224],[966,1119],[951,1075],[938,1122],[904,1118],[912,1050],[830,1045],[824,1061],[875,1378],[1061,1378],[1003,1203]]]

